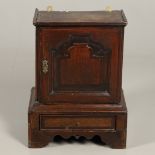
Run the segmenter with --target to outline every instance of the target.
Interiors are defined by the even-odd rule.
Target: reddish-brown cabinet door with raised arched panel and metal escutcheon
[[[37,97],[43,103],[119,102],[119,27],[42,27],[37,31]]]

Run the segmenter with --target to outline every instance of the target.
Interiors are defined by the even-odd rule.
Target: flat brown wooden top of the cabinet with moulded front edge
[[[36,9],[35,26],[125,26],[123,10],[108,11],[39,11]]]

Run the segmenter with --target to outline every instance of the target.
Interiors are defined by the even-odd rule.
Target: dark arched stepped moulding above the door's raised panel
[[[68,39],[61,42],[56,48],[52,48],[55,56],[69,57],[69,48],[75,44],[87,44],[92,49],[93,57],[104,57],[111,53],[111,49],[106,49],[101,43],[94,41],[90,34],[69,35]]]

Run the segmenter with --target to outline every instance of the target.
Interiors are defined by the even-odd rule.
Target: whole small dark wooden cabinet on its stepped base
[[[98,135],[112,148],[125,148],[123,11],[36,9],[33,23],[36,85],[29,105],[29,147],[43,147],[57,135]]]

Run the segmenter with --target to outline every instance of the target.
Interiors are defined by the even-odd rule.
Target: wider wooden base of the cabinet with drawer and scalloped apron
[[[41,148],[61,136],[99,136],[111,148],[126,147],[127,108],[122,92],[118,104],[41,104],[35,101],[31,90],[28,111],[28,146]]]

